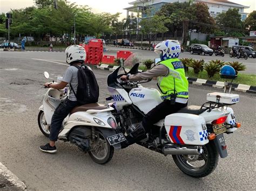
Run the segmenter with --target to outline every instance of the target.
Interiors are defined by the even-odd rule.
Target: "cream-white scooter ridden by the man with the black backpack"
[[[44,72],[46,79],[49,73]],[[57,82],[62,77],[58,77]],[[54,83],[54,81],[52,81]],[[68,96],[68,88],[49,88],[39,107],[38,125],[45,137],[49,137],[51,118],[61,101]],[[93,161],[98,164],[109,162],[114,148],[120,148],[120,143],[110,144],[116,138],[117,123],[111,111],[112,107],[91,103],[75,107],[64,119],[58,139],[76,144],[84,152],[88,152]]]

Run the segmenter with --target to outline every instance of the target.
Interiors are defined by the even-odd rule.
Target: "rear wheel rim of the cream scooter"
[[[109,147],[107,146],[107,140],[103,136],[101,132],[96,132],[96,140],[95,140],[95,147],[91,150],[91,154],[98,160],[103,160],[107,153]]]

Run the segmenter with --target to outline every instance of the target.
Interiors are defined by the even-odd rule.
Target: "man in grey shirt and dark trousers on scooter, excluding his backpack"
[[[62,128],[62,122],[66,116],[69,115],[70,111],[78,105],[77,98],[74,93],[74,91],[77,91],[78,86],[78,68],[74,66],[81,66],[81,64],[84,63],[86,53],[82,46],[71,45],[66,48],[65,55],[66,62],[69,63],[70,66],[66,69],[62,78],[62,82],[44,84],[44,86],[47,88],[63,89],[69,83],[73,88],[73,90],[70,89],[69,97],[59,104],[52,116],[49,136],[50,143],[40,146],[41,151],[48,153],[57,152],[55,142],[58,139],[59,130]]]

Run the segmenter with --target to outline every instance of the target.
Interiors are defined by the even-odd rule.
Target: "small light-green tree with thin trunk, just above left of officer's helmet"
[[[142,19],[139,25],[142,27],[141,31],[143,34],[147,34],[147,39],[149,40],[149,47],[151,47],[152,34],[154,33],[164,33],[168,29],[164,26],[164,17],[153,16],[150,18]]]

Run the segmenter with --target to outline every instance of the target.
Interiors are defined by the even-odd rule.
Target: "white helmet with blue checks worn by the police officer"
[[[178,58],[181,48],[177,40],[165,40],[154,47],[154,52],[160,54],[161,60]]]

